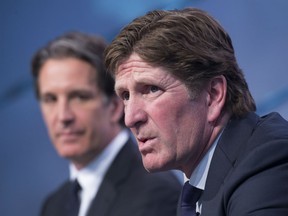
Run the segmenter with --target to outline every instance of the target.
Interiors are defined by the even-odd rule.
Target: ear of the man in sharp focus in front
[[[208,121],[216,122],[221,115],[227,93],[227,81],[223,75],[213,77],[207,86],[208,91]]]

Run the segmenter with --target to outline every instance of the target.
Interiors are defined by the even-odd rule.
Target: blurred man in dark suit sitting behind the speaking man
[[[42,216],[175,215],[175,174],[149,174],[123,126],[123,104],[103,65],[106,43],[70,32],[33,57],[36,95],[70,180],[45,201]],[[122,122],[122,124],[121,124]]]

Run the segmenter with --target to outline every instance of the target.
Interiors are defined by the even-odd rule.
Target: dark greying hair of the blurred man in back
[[[40,48],[32,58],[31,69],[36,96],[39,98],[38,77],[44,63],[49,59],[77,58],[95,69],[97,87],[108,97],[115,95],[114,79],[104,66],[105,40],[83,32],[67,32]]]

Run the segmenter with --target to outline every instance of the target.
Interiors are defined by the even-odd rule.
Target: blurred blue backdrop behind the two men
[[[66,31],[111,41],[148,10],[187,6],[208,11],[229,32],[257,112],[288,119],[287,0],[1,0],[0,215],[38,215],[43,198],[68,176],[34,98],[33,53]]]

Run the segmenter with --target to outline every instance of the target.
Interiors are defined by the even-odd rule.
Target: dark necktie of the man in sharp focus
[[[202,190],[193,187],[189,181],[185,182],[181,196],[181,216],[196,216],[196,202],[201,196]]]

